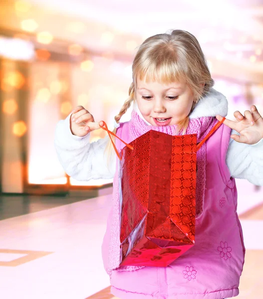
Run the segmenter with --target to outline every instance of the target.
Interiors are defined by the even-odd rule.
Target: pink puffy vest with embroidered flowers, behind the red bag
[[[222,124],[206,141],[204,209],[196,222],[195,246],[165,268],[112,271],[111,285],[115,296],[132,299],[150,298],[150,295],[151,298],[163,299],[222,299],[239,294],[245,247],[237,215],[236,182],[230,177],[226,164],[230,135],[231,129]],[[126,143],[132,141],[128,122],[121,123],[117,136]],[[125,146],[118,139],[115,143],[118,150]],[[117,183],[116,173],[113,189]],[[112,209],[102,244],[105,270],[108,263],[111,217]]]

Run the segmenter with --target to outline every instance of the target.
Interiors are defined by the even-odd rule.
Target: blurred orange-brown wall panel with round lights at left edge
[[[26,179],[28,63],[0,60],[1,192],[22,193]]]

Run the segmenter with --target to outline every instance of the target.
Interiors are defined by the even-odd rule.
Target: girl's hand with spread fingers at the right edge
[[[246,110],[244,112],[245,116],[236,111],[234,116],[237,121],[233,122],[226,119],[223,123],[240,133],[240,136],[237,134],[231,135],[231,138],[239,143],[254,145],[263,138],[263,118],[255,105],[251,106],[251,111]],[[221,115],[217,115],[216,118],[219,121],[223,119]]]

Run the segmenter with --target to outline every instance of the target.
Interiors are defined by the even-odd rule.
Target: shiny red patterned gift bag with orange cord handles
[[[121,140],[121,154],[112,142],[120,159],[120,266],[166,267],[194,246],[196,152],[224,120],[198,146],[196,134],[154,130],[129,145]]]

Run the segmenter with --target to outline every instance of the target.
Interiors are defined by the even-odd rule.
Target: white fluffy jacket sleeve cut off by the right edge
[[[231,134],[240,135],[235,130]],[[226,162],[232,177],[263,186],[263,139],[255,145],[247,145],[231,138]]]

